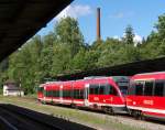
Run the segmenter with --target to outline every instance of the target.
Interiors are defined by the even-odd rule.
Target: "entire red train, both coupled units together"
[[[46,83],[37,95],[42,102],[165,120],[165,72]]]

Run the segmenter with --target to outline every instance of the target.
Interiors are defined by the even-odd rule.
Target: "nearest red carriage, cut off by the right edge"
[[[135,117],[165,119],[165,72],[138,74],[131,78],[127,106]]]

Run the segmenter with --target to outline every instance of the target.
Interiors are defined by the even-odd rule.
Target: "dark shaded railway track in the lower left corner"
[[[0,105],[0,130],[94,130],[13,105]]]

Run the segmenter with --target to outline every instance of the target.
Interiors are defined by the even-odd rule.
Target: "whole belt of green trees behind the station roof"
[[[45,78],[165,56],[165,14],[158,17],[155,29],[136,45],[131,25],[122,40],[108,37],[89,45],[77,20],[62,19],[53,32],[35,35],[0,64],[0,89],[4,80],[14,79],[25,94],[34,94]]]

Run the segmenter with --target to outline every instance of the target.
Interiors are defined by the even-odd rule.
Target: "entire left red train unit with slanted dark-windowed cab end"
[[[125,94],[129,77],[88,77],[80,80],[53,82],[38,87],[38,100],[86,107],[106,112],[121,112],[127,110]]]

